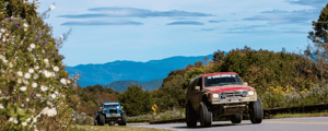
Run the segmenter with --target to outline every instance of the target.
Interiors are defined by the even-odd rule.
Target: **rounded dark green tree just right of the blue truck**
[[[150,93],[142,91],[142,86],[133,84],[118,96],[118,102],[121,103],[128,116],[145,115],[152,110],[153,106]]]

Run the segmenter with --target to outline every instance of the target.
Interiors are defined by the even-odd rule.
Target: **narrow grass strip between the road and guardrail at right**
[[[306,112],[306,114],[278,114],[273,115],[271,119],[279,119],[279,118],[302,118],[302,117],[328,117],[328,110],[325,111],[314,111],[314,112]]]

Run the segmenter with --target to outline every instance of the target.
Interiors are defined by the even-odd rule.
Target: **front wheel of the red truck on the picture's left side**
[[[201,127],[211,127],[212,126],[212,112],[208,110],[207,105],[204,103],[200,103],[199,105],[199,117],[200,117],[200,126]]]

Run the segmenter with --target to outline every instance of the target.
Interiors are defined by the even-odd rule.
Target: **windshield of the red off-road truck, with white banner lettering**
[[[204,76],[204,87],[223,85],[243,85],[243,81],[237,74]]]

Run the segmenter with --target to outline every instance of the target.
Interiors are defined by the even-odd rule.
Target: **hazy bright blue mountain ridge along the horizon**
[[[165,79],[171,71],[184,69],[189,63],[203,60],[206,56],[199,57],[171,57],[162,60],[150,60],[148,62],[136,62],[118,60],[104,64],[79,64],[77,67],[66,67],[69,74],[78,72],[82,74],[79,84],[82,87],[87,85],[105,85],[115,81],[134,80],[149,82],[155,79]],[[210,59],[213,55],[208,56]]]

